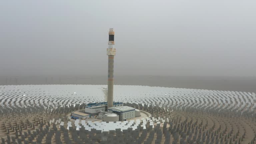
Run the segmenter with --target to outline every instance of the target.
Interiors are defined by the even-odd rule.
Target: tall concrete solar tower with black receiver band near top
[[[115,42],[114,42],[114,29],[110,28],[108,39],[108,108],[113,107],[113,85],[114,85],[114,56],[116,55]]]

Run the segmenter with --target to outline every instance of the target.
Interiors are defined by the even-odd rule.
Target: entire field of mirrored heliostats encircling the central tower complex
[[[144,118],[72,120],[106,101],[106,85],[0,86],[2,143],[254,143],[256,95],[249,92],[115,85],[114,100]]]

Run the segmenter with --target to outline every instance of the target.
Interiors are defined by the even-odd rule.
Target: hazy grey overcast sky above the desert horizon
[[[255,76],[255,0],[3,0],[0,75]]]

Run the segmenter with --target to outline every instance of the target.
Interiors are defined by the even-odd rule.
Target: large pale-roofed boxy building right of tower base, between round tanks
[[[135,108],[129,106],[117,106],[108,108],[109,113],[116,113],[119,115],[119,121],[126,121],[135,118]]]

